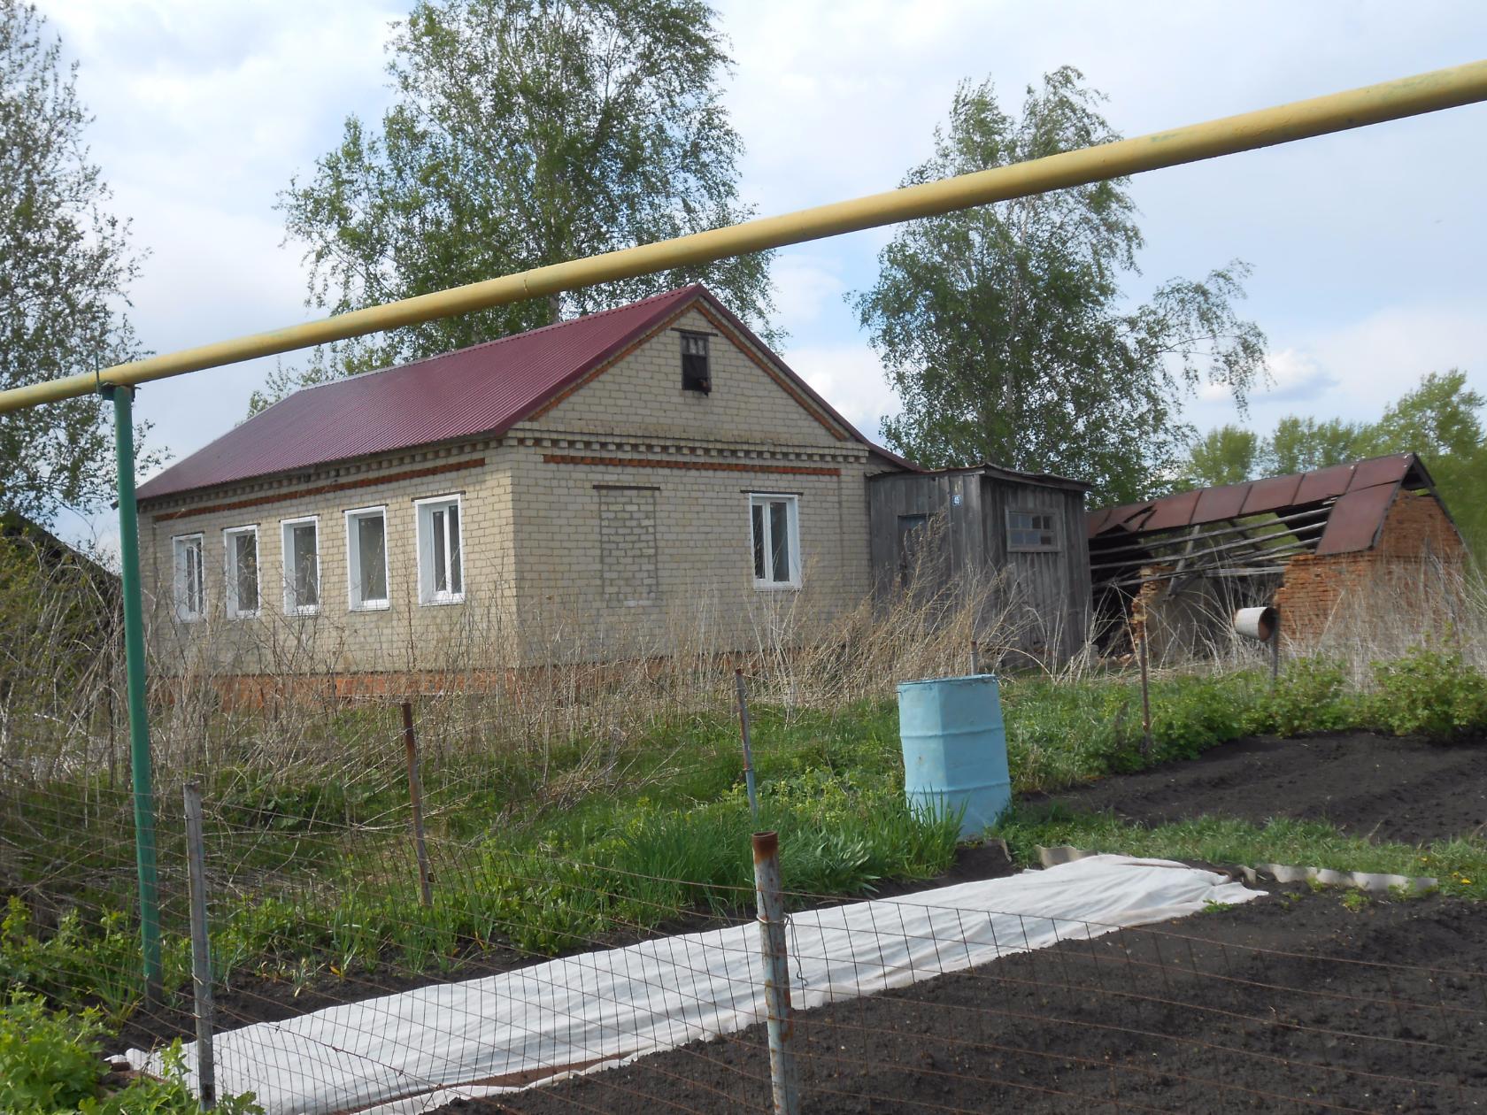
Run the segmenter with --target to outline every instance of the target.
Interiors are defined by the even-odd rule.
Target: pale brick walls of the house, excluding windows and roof
[[[711,394],[683,391],[675,327],[714,334]],[[488,669],[699,641],[744,648],[781,610],[825,618],[868,592],[865,477],[877,468],[839,433],[693,309],[500,442],[141,507],[144,575],[156,587],[152,645],[167,668],[186,656],[239,673]],[[455,468],[378,482],[440,467]],[[346,483],[357,486],[305,491]],[[754,491],[799,495],[801,590],[754,586]],[[465,601],[422,605],[413,501],[455,492]],[[250,505],[190,511],[239,502]],[[345,513],[375,505],[387,507],[390,607],[355,611]],[[309,514],[320,517],[321,608],[299,618],[284,615],[280,523]],[[263,613],[228,620],[223,531],[247,525],[259,526]],[[171,540],[195,532],[205,541],[208,617],[180,623]]]

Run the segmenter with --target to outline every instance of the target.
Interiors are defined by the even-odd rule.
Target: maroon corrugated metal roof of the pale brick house
[[[619,309],[296,391],[140,485],[138,498],[500,434],[699,299],[769,354],[706,288],[683,287]],[[865,443],[784,361],[776,357],[775,364],[824,413]]]

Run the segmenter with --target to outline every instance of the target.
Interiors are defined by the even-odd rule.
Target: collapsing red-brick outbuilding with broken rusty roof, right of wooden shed
[[[1459,605],[1466,547],[1414,453],[1200,488],[1090,511],[1096,639],[1144,632],[1160,659],[1227,638],[1234,608],[1274,605],[1315,645],[1370,617],[1429,629]]]

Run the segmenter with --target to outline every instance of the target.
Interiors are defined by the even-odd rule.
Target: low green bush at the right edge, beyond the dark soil
[[[1396,736],[1451,740],[1487,730],[1487,678],[1459,648],[1416,647],[1374,665],[1370,717]]]

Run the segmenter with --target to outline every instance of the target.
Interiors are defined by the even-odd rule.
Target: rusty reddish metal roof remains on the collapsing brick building
[[[1378,538],[1402,485],[1432,488],[1414,453],[1390,453],[1313,473],[1271,476],[1222,488],[1199,488],[1160,500],[1090,511],[1088,537],[1130,537],[1201,526],[1254,514],[1285,514],[1331,502],[1316,553],[1352,553]]]

